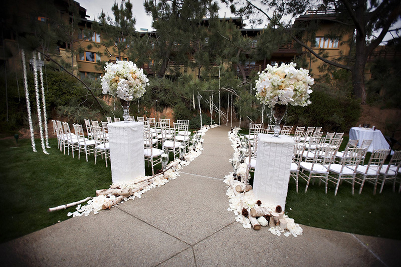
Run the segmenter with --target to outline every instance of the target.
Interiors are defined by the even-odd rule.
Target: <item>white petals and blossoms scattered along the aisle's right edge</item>
[[[234,157],[238,157],[239,155],[239,150],[240,148],[237,148],[239,144],[241,144],[241,138],[238,136],[238,131],[240,128],[236,127],[232,131],[229,132],[229,139],[232,142],[232,147],[234,148]],[[246,163],[241,163],[238,170],[237,174],[241,177],[246,177],[247,173],[247,164]],[[248,218],[244,217],[242,215],[242,209],[246,208],[248,212],[251,210],[256,205],[256,198],[253,193],[253,190],[250,190],[248,192],[241,193],[236,195],[234,190],[235,187],[238,184],[241,184],[240,181],[234,180],[233,173],[229,173],[228,175],[225,176],[224,182],[228,184],[227,192],[226,195],[229,197],[229,211],[233,211],[234,214],[236,215],[236,221],[242,223],[244,228],[251,228],[251,222],[249,221]],[[275,206],[268,205],[266,203],[261,204],[262,207],[265,207],[268,209],[269,212],[272,212],[275,210]],[[269,231],[272,234],[280,236],[283,234],[284,236],[290,236],[291,234],[294,237],[297,237],[298,235],[302,234],[302,228],[299,226],[299,224],[295,223],[294,219],[289,218],[288,215],[284,215],[284,219],[287,221],[287,228],[286,229],[281,229],[280,226],[276,227],[270,227]],[[265,217],[259,217],[258,222],[262,226],[268,226],[268,222],[265,219]]]

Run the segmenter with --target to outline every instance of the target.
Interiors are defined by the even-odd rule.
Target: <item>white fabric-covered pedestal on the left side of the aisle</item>
[[[108,124],[113,183],[133,182],[145,176],[143,123]]]

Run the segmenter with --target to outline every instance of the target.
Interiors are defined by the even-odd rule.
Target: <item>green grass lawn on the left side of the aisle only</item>
[[[50,146],[50,155],[45,155],[40,140],[36,140],[36,153],[32,152],[31,139],[20,139],[18,143],[14,139],[0,140],[0,242],[68,219],[67,213],[74,212],[76,206],[54,212],[47,209],[95,196],[97,189],[112,184],[110,165],[106,168],[100,156],[95,165],[93,155],[88,162],[82,152],[80,160],[77,152],[75,158],[64,155],[57,149],[57,139],[50,139]],[[146,174],[151,175],[146,162],[145,166]],[[155,166],[157,169],[160,166]]]

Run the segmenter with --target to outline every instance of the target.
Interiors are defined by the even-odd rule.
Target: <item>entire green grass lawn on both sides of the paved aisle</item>
[[[0,201],[4,214],[0,242],[67,219],[67,213],[75,211],[75,207],[55,212],[47,209],[95,196],[97,189],[108,188],[112,183],[111,169],[101,158],[94,165],[92,155],[89,162],[85,156],[73,159],[57,149],[56,139],[51,139],[50,145],[51,154],[45,155],[40,140],[36,140],[37,153],[32,152],[30,139],[21,139],[18,144],[14,139],[0,140]],[[151,175],[149,167],[146,174]],[[401,194],[393,193],[390,184],[381,194],[373,195],[373,186],[365,184],[361,195],[357,191],[352,195],[351,185],[344,182],[337,196],[333,184],[328,194],[324,193],[324,184],[319,186],[317,182],[310,184],[305,194],[305,185],[300,180],[296,193],[291,179],[288,187],[286,213],[297,223],[401,239]]]

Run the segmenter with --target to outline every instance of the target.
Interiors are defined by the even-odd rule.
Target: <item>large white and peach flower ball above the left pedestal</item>
[[[105,95],[131,101],[140,98],[146,91],[145,87],[149,85],[143,70],[131,61],[106,63],[104,69],[106,73],[101,77],[100,84]]]

